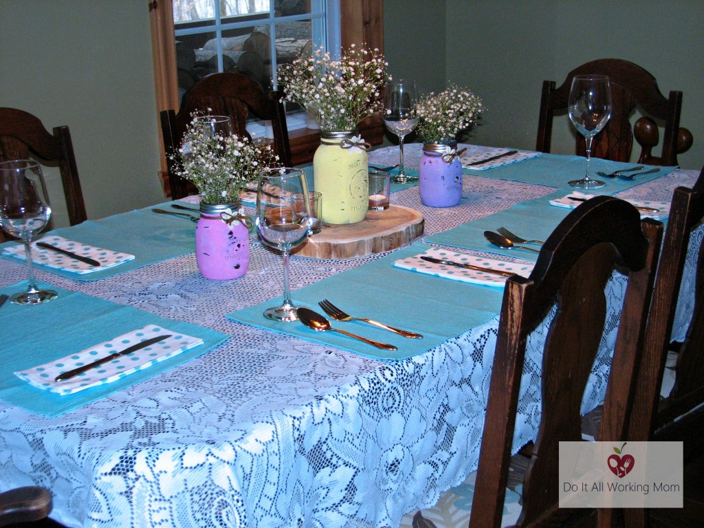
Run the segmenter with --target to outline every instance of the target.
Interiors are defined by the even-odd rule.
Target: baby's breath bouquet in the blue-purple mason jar
[[[421,96],[416,105],[418,132],[426,143],[449,144],[461,130],[479,120],[482,100],[452,84],[443,92]]]

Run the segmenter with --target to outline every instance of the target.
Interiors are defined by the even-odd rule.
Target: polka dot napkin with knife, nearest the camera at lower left
[[[156,344],[115,358],[75,377],[58,382],[55,380],[56,376],[63,372],[87,365],[110,356],[112,353],[125,350],[125,348],[141,341],[158,336],[165,337]],[[92,386],[113,382],[116,379],[132,374],[132,372],[144,370],[155,363],[177,356],[183,351],[201,344],[203,344],[203,339],[179,334],[168,328],[147,325],[144,328],[115,337],[110,341],[103,341],[80,352],[44,363],[44,365],[20,370],[20,372],[15,372],[15,375],[39,389],[57,394],[73,394]]]

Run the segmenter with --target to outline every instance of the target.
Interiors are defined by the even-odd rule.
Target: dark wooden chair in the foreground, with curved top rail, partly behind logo
[[[597,440],[628,439],[661,239],[660,222],[641,222],[629,203],[599,196],[560,222],[527,279],[515,275],[506,281],[470,528],[501,524],[527,338],[555,305],[542,356],[541,422],[516,526],[548,519],[553,524],[544,525],[557,526],[587,513],[598,515],[599,526],[610,525],[613,510],[558,508],[559,442],[582,441],[580,407],[604,330],[605,285],[615,268],[627,274],[628,285]]]

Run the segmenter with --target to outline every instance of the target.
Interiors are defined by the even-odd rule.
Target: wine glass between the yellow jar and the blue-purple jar
[[[398,136],[398,174],[394,182],[405,183],[417,180],[415,176],[406,174],[403,166],[403,139],[415,130],[418,117],[415,113],[415,81],[399,80],[386,83],[384,88],[384,125]]]

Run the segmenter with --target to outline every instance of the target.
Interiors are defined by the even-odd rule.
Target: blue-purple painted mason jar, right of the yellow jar
[[[420,200],[429,207],[452,207],[462,199],[462,163],[446,154],[447,145],[423,144],[418,168]]]

